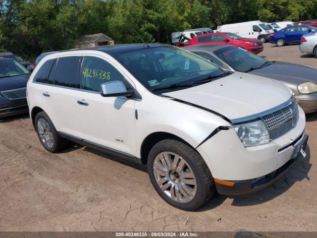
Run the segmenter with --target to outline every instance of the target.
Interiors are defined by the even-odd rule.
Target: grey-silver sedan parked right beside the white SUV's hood
[[[280,81],[293,90],[298,104],[305,113],[317,112],[316,68],[296,63],[268,61],[232,45],[195,45],[184,49],[224,69]]]

